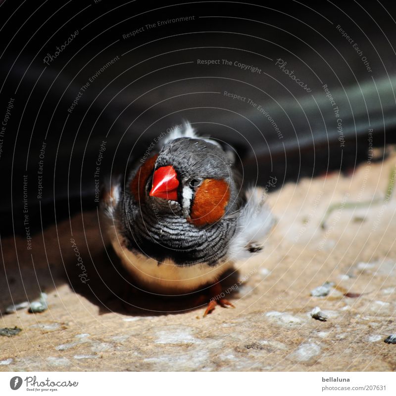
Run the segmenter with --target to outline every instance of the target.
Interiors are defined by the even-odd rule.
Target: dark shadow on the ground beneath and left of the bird
[[[152,316],[206,306],[210,299],[207,287],[183,296],[162,296],[145,291],[103,239],[97,212],[76,215],[70,222],[62,221],[35,234],[32,250],[26,248],[19,236],[4,239],[1,313],[11,304],[37,299],[42,291],[56,292],[65,283],[73,292],[95,304],[99,314]],[[75,246],[71,240],[75,241]],[[84,267],[77,260],[76,251]],[[224,289],[237,282],[237,271],[227,272],[221,280]]]

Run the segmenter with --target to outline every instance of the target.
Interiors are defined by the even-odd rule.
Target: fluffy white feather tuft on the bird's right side
[[[241,210],[238,229],[230,241],[228,260],[248,258],[251,244],[262,244],[265,235],[274,224],[274,218],[264,203],[264,188],[250,188],[246,192],[247,204]]]

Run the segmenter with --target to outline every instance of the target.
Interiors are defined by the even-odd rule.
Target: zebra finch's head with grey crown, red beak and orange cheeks
[[[201,227],[225,215],[232,185],[231,164],[220,147],[202,139],[179,138],[140,168],[131,192],[143,205],[154,201],[159,215],[172,212]]]

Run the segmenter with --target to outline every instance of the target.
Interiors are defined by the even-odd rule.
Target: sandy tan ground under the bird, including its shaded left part
[[[191,308],[194,296],[164,301],[128,287],[103,251],[96,212],[35,235],[32,255],[21,238],[17,256],[3,239],[2,313],[11,297],[31,301],[40,291],[49,309],[1,316],[0,328],[22,331],[0,337],[0,370],[395,370],[396,345],[384,342],[396,333],[396,197],[387,191],[395,170],[393,153],[271,193],[278,222],[265,249],[225,281],[236,308],[206,318]],[[329,295],[312,297],[326,281]],[[327,321],[310,316],[316,306]]]

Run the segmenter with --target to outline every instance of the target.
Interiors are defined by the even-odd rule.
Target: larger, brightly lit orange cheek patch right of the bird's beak
[[[195,194],[189,221],[197,226],[213,224],[224,216],[229,200],[230,190],[226,181],[203,180]]]

